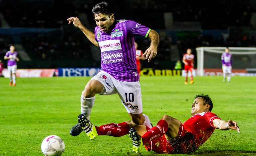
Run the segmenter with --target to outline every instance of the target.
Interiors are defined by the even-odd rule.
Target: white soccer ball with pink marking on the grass
[[[45,156],[61,156],[65,149],[64,141],[57,135],[49,135],[41,144]]]

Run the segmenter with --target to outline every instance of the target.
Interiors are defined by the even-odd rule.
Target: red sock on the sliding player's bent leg
[[[165,120],[160,120],[157,125],[149,129],[143,136],[143,144],[148,143],[152,139],[159,138],[163,136],[168,129],[168,123]]]

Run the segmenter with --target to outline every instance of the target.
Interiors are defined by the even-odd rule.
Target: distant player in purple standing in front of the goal
[[[229,48],[225,48],[225,52],[221,55],[222,61],[222,70],[223,70],[223,82],[226,82],[226,77],[228,82],[231,79],[231,70],[232,70],[232,54],[229,53]]]

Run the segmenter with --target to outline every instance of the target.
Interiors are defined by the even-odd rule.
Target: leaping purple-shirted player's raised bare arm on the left
[[[82,25],[82,23],[77,17],[70,17],[67,19],[67,21],[68,24],[71,24],[71,22],[73,22],[73,25],[79,28],[94,45],[99,46],[99,43],[95,40],[95,34],[89,31],[87,28],[85,28],[85,26]]]

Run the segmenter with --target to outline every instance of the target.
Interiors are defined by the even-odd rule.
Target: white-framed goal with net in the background
[[[253,47],[229,47],[232,54],[232,70],[243,69],[256,72],[256,48]],[[204,75],[206,69],[222,69],[221,55],[225,47],[198,47],[197,74]]]

